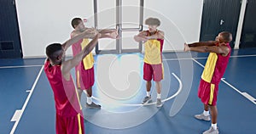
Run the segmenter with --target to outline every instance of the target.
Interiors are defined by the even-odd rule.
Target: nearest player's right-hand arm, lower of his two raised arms
[[[96,46],[96,43],[98,42],[98,39],[100,36],[101,34],[97,34],[94,37],[94,39],[91,40],[90,43],[86,47],[84,47],[84,49],[80,53],[78,53],[75,57],[73,57],[73,59],[69,59],[67,61],[62,62],[61,72],[62,72],[62,75],[64,75],[66,80],[69,79],[69,75],[68,75],[69,71],[73,67],[75,67],[77,64],[79,64],[79,62],[91,52],[91,50]]]

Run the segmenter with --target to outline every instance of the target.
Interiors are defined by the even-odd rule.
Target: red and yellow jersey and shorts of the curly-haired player
[[[150,36],[149,31],[147,36]],[[158,31],[156,31],[158,32]],[[162,64],[163,39],[152,39],[144,43],[144,65],[143,79],[145,81],[161,81],[164,78],[164,68]]]

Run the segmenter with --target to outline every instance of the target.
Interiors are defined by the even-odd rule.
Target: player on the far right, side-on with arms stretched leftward
[[[192,44],[184,44],[184,51],[195,51],[199,53],[209,53],[205,69],[201,75],[200,86],[198,89],[198,97],[204,104],[202,114],[196,114],[198,120],[211,120],[209,109],[211,110],[212,126],[203,134],[217,134],[217,116],[218,110],[216,106],[218,95],[218,84],[221,81],[224,71],[230,59],[230,42],[232,35],[228,31],[218,34],[215,41],[195,42]]]

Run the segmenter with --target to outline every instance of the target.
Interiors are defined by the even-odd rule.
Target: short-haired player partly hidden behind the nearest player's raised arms
[[[73,26],[73,31],[71,33],[71,38],[73,36],[77,36],[78,34],[82,33],[86,30],[95,30],[94,28],[87,28],[84,26],[84,22],[80,18],[74,18],[71,21],[71,25]],[[101,33],[102,37],[108,37],[108,38],[117,38],[118,33],[117,31],[113,30],[100,30],[98,31]],[[83,47],[87,46],[89,43],[89,38],[92,38],[93,36],[89,36],[88,38],[84,38],[79,40],[79,42],[76,42],[72,46],[73,50],[73,56],[76,56]],[[94,79],[94,58],[92,53],[89,53],[78,65],[76,65],[76,83],[79,91],[79,98],[81,99],[82,90],[85,90],[87,92],[87,101],[86,101],[86,107],[92,108],[92,109],[101,109],[101,105],[96,104],[92,101],[92,86],[94,85],[95,79]]]

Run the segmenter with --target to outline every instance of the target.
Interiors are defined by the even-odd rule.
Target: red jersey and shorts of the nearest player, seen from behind
[[[52,66],[45,61],[44,71],[54,92],[56,134],[84,134],[82,107],[78,92],[70,75],[69,81],[61,75],[61,65]]]

